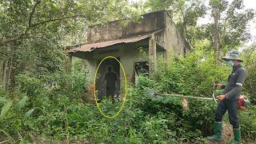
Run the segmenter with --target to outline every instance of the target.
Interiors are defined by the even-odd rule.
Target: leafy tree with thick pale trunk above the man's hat
[[[207,29],[214,35],[214,50],[217,57],[222,51],[237,49],[250,39],[250,32],[247,31],[248,22],[254,18],[254,10],[245,9],[242,0],[234,0],[229,3],[226,0],[211,0],[210,10],[214,17],[213,28]],[[207,35],[210,39],[212,35]]]

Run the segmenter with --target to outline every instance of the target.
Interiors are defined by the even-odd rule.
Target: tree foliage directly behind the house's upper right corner
[[[146,3],[152,11],[170,10],[189,50],[194,47],[190,30],[197,25],[198,18],[206,14],[206,6],[201,0],[149,0]]]

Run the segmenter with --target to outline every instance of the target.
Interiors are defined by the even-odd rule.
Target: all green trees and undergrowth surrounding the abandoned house
[[[90,83],[85,64],[74,60],[68,70],[66,46],[86,42],[87,26],[136,21],[157,10],[169,10],[190,51],[168,64],[159,58],[153,78],[142,76],[129,86],[121,114],[105,118],[86,102]],[[254,14],[243,0],[1,0],[0,143],[204,142],[213,132],[214,102],[188,99],[185,111],[180,98],[149,98],[143,90],[211,98],[213,83],[225,83],[230,74],[218,58],[250,40]],[[208,16],[215,21],[198,23]],[[243,93],[252,102],[239,111],[246,142],[256,141],[255,48],[239,49],[247,70]],[[110,114],[119,108],[108,99],[101,106],[112,109]]]

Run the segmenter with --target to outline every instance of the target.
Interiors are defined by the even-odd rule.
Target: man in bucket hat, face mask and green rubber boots
[[[238,98],[240,96],[242,85],[246,79],[246,69],[242,66],[242,59],[236,50],[230,50],[225,57],[222,58],[229,66],[233,67],[226,85],[218,84],[218,88],[222,88],[223,93],[218,98],[218,108],[215,113],[214,135],[208,138],[211,141],[220,142],[222,140],[222,116],[229,114],[230,124],[233,126],[234,140],[232,144],[240,143],[241,131],[238,122]]]

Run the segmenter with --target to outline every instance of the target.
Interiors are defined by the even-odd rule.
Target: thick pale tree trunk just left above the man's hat
[[[214,51],[216,53],[216,57],[220,58],[221,52],[221,43],[220,43],[220,34],[219,34],[219,18],[220,12],[218,8],[214,8],[212,10],[212,14],[214,17]]]

